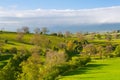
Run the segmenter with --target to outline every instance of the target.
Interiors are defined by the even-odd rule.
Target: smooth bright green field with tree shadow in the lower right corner
[[[120,80],[120,58],[95,60],[60,80]]]

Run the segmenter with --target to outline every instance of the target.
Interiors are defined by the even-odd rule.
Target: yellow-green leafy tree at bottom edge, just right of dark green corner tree
[[[22,74],[19,75],[17,80],[42,80],[40,75],[42,61],[39,54],[33,53],[20,66],[22,67]]]

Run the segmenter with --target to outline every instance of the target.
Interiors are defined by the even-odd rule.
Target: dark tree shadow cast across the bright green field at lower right
[[[102,67],[108,66],[108,64],[88,64],[85,67],[81,67],[65,73],[63,76],[72,76],[78,74],[89,74],[89,70],[100,70]]]

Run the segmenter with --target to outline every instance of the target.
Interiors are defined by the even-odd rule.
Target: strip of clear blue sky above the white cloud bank
[[[120,0],[0,0],[0,6],[17,9],[88,9],[119,6]]]

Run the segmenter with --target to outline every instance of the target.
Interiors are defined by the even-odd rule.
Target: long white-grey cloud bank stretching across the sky
[[[13,6],[14,7],[14,6]],[[80,10],[56,10],[35,9],[15,10],[0,7],[0,25],[80,25],[120,23],[120,6],[80,9]]]

